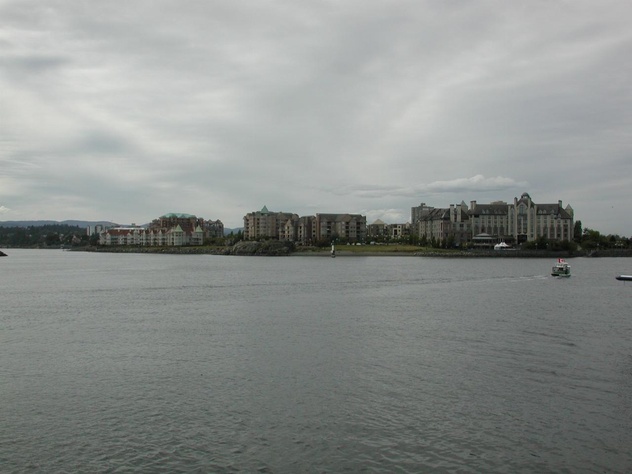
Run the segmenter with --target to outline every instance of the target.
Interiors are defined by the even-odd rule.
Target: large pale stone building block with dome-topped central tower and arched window
[[[573,208],[557,204],[535,204],[528,193],[513,204],[495,201],[490,204],[470,202],[468,215],[472,236],[489,234],[499,241],[520,244],[538,237],[550,240],[573,240]]]

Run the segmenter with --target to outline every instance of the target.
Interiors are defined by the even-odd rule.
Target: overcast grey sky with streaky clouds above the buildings
[[[0,0],[0,221],[570,204],[632,234],[629,1]]]

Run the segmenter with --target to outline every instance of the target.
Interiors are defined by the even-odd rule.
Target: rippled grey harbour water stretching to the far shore
[[[3,473],[626,473],[626,258],[6,250]]]

